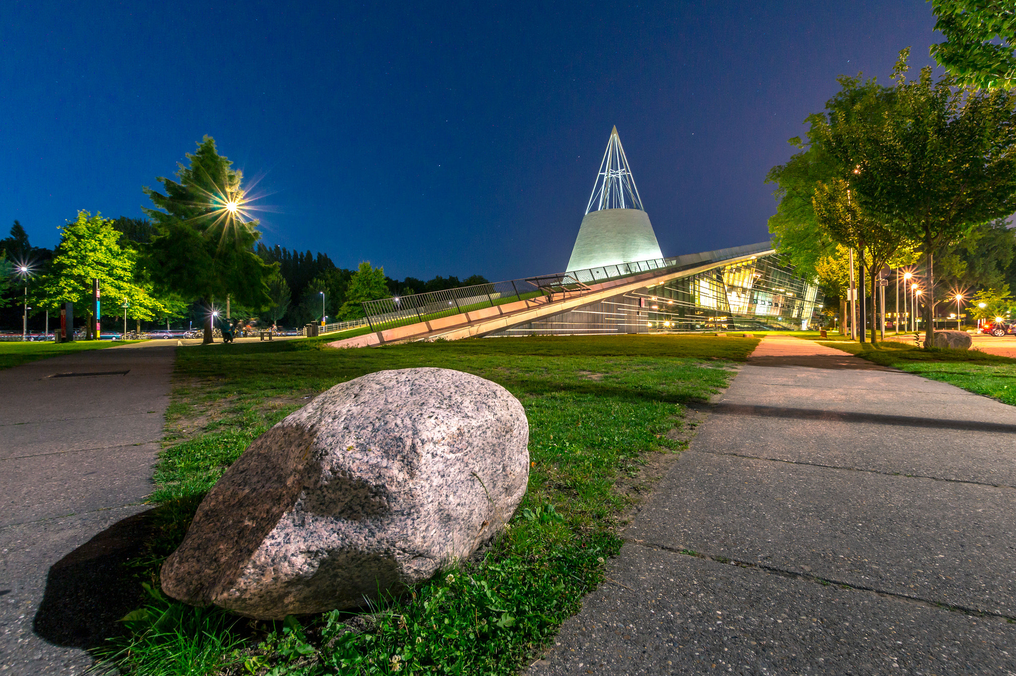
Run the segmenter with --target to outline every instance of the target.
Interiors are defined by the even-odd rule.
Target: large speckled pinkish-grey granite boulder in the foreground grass
[[[223,475],[163,589],[259,619],[402,591],[504,526],[525,492],[528,437],[518,400],[477,376],[405,368],[336,385]]]

